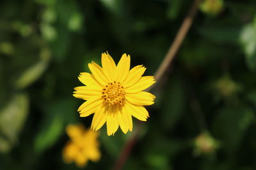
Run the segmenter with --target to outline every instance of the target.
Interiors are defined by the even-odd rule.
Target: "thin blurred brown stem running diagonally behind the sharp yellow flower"
[[[200,0],[195,0],[189,10],[188,15],[186,16],[186,18],[184,18],[184,21],[182,22],[182,25],[180,26],[180,29],[177,35],[175,36],[175,39],[172,45],[170,46],[168,52],[166,53],[166,56],[164,57],[164,60],[162,61],[161,65],[158,67],[156,74],[154,75],[156,81],[158,81],[163,76],[164,72],[166,71],[168,66],[170,66],[170,63],[175,57],[175,54],[179,50],[182,41],[186,37],[186,34],[188,33],[189,28],[191,27],[191,24],[193,22],[193,18],[195,17],[199,3],[200,3]],[[147,90],[150,90],[150,89],[147,89]],[[127,143],[125,143],[122,149],[122,152],[120,153],[118,159],[115,162],[115,166],[113,167],[113,169],[115,170],[122,169],[125,161],[127,160],[127,157],[130,155],[131,150],[138,139],[138,135],[140,133],[141,127],[142,127],[142,122],[138,124],[137,131],[134,133],[134,135],[131,136],[130,139],[128,139]]]

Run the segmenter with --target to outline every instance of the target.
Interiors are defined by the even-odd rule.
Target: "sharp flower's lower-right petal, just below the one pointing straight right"
[[[126,101],[124,105],[127,113],[131,114],[133,117],[138,118],[138,120],[147,121],[148,115],[143,111],[142,107],[143,106],[135,106],[134,104],[129,103],[129,101]]]

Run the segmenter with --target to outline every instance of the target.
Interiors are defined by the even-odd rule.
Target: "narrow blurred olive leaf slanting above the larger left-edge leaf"
[[[43,49],[40,53],[41,60],[20,74],[20,77],[15,81],[15,87],[24,89],[36,81],[47,68],[50,56],[49,50]]]

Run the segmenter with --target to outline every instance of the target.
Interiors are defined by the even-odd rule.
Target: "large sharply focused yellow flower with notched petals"
[[[115,134],[119,125],[126,134],[132,131],[132,117],[147,121],[145,105],[154,104],[154,95],[143,92],[156,81],[154,76],[142,76],[142,65],[130,69],[130,55],[122,55],[117,66],[108,53],[102,53],[100,67],[95,62],[88,66],[92,74],[81,73],[78,79],[86,86],[76,87],[74,96],[84,99],[79,108],[80,117],[95,113],[91,128],[95,131],[107,125],[108,135]]]

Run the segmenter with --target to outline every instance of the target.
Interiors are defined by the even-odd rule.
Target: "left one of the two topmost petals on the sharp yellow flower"
[[[109,82],[116,80],[116,64],[115,61],[108,53],[102,53],[101,55],[102,69]]]

